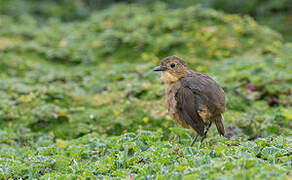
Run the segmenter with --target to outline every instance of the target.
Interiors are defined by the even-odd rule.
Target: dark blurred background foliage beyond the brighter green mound
[[[195,4],[228,13],[248,14],[261,24],[282,33],[292,40],[292,3],[290,0],[1,0],[0,14],[22,16],[31,14],[43,19],[58,18],[62,21],[86,19],[92,11],[104,9],[117,3],[155,5],[163,2],[168,7],[186,8]]]

